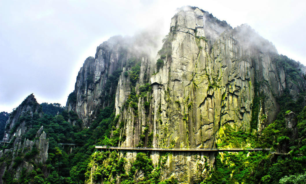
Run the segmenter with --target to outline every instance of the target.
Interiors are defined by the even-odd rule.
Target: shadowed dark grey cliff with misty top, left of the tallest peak
[[[144,35],[138,36],[140,37],[138,39],[141,39]],[[129,78],[125,77],[125,73],[135,62],[147,63],[141,66],[140,75],[149,73],[150,64],[148,63],[153,63],[153,59],[150,58],[150,49],[157,48],[151,39],[154,37],[141,41],[127,37],[123,39],[120,36],[111,37],[97,48],[95,58],[88,57],[85,60],[76,78],[75,90],[69,95],[66,104],[68,111],[75,111],[83,120],[84,127],[91,124],[95,115],[99,113],[99,109],[111,104],[116,90],[119,90],[118,93],[121,92],[121,99],[116,100],[116,106],[120,109],[122,102],[129,96],[129,88],[125,87],[125,81],[129,81]],[[144,51],[141,48],[142,45],[149,43],[150,49]]]

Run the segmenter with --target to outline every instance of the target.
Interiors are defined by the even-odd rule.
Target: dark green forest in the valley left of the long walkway
[[[92,123],[89,129],[81,129],[80,126],[70,125],[68,119],[81,121],[73,112],[62,111],[60,115],[52,116],[44,114],[39,118],[38,113],[33,114],[31,118],[28,113],[24,118],[32,125],[32,129],[23,137],[34,140],[36,132],[41,126],[49,138],[48,160],[46,165],[34,165],[34,170],[29,173],[23,171],[19,181],[13,181],[12,175],[6,172],[3,176],[6,183],[84,183],[85,172],[89,163],[89,157],[94,151],[94,144],[104,140],[104,136],[110,135],[111,122],[114,119],[113,108],[107,107],[101,110],[99,117]],[[24,139],[23,138],[23,139]],[[76,143],[79,147],[73,148],[70,152],[69,147],[63,148],[59,143]],[[9,149],[13,146],[13,141],[2,150]],[[68,154],[69,153],[69,154]],[[21,159],[31,159],[33,155],[23,155]],[[11,158],[1,158],[0,162],[11,162]],[[0,163],[2,164],[2,163]],[[17,163],[18,164],[18,163]],[[45,177],[42,171],[50,173]],[[35,176],[35,177],[34,177]]]

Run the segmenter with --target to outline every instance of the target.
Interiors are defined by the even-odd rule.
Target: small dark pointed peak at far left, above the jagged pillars
[[[18,137],[27,133],[31,128],[31,125],[27,122],[33,118],[34,113],[42,117],[43,112],[34,95],[30,94],[9,116],[6,122],[3,142],[10,142],[14,136]]]

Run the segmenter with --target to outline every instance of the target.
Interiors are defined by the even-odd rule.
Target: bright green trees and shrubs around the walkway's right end
[[[285,112],[285,111],[283,111]],[[259,147],[273,147],[274,150],[282,150],[284,146],[291,145],[291,151],[285,155],[271,155],[268,152],[246,152],[218,154],[215,160],[215,169],[211,177],[204,179],[202,184],[244,182],[248,184],[278,184],[278,183],[299,183],[306,171],[306,107],[297,115],[298,118],[298,139],[290,140],[288,131],[284,125],[283,116],[267,126],[259,138]],[[241,137],[243,133],[227,133],[232,139]],[[240,134],[240,135],[239,135]],[[249,137],[248,135],[247,137]],[[248,138],[246,139],[248,140]],[[256,140],[256,139],[255,139]],[[228,140],[231,141],[231,140]],[[255,141],[256,143],[256,141]],[[288,149],[288,148],[287,148]],[[304,181],[302,182],[304,183]]]

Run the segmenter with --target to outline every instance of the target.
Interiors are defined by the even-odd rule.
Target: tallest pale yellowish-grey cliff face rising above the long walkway
[[[274,46],[250,27],[227,26],[219,37],[207,40],[206,32],[220,29],[203,28],[206,14],[196,8],[172,18],[166,40],[171,44],[164,44],[157,57],[164,64],[150,79],[150,107],[145,109],[145,98],[139,98],[137,114],[132,108],[120,114],[119,122],[126,122],[122,146],[136,146],[149,126],[153,147],[215,147],[225,128],[251,131],[252,103],[259,93],[265,97],[259,105],[259,115],[265,117],[259,117],[260,133],[278,114],[276,96],[287,87],[294,99],[305,89],[303,79],[290,78],[276,63]],[[123,98],[118,93],[116,97]]]

